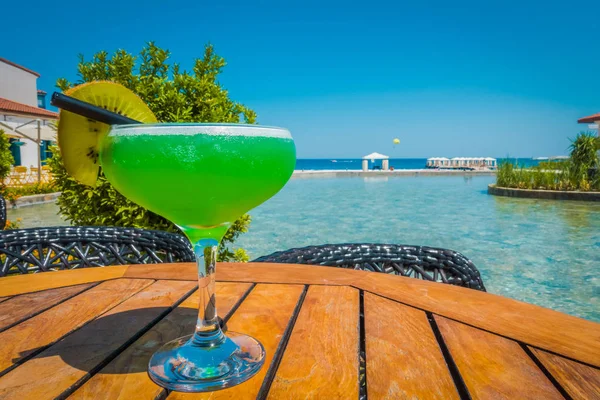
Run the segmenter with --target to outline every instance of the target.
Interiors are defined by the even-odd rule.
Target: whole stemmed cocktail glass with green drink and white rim
[[[119,192],[177,224],[196,254],[196,331],[152,356],[152,380],[172,390],[200,392],[252,377],[265,351],[248,335],[221,330],[217,247],[232,222],[272,197],[292,175],[296,149],[290,133],[239,124],[116,125],[100,145],[100,161]]]

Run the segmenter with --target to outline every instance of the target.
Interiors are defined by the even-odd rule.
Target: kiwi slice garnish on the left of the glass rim
[[[65,94],[143,123],[157,122],[142,99],[118,83],[84,83],[67,90]],[[96,186],[100,168],[99,145],[109,131],[110,125],[60,110],[58,147],[67,172],[78,182]]]

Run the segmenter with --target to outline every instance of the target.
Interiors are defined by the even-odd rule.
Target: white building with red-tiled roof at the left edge
[[[46,110],[46,92],[37,89],[40,74],[0,58],[0,129],[11,138],[15,165],[39,167],[55,140],[58,114]]]

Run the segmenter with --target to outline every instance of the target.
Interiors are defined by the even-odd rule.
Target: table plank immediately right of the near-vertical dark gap
[[[368,395],[375,399],[458,399],[425,312],[365,293]]]

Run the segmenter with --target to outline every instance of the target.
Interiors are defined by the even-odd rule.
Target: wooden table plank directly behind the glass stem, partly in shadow
[[[250,287],[249,283],[217,282],[219,314],[227,315]],[[194,332],[198,303],[199,297],[196,292],[69,398],[154,399],[163,389],[148,377],[148,361],[164,343]]]

